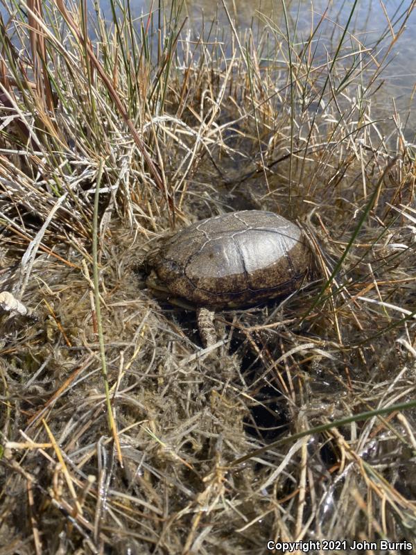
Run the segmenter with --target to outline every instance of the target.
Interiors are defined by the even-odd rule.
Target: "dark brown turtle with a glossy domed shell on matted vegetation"
[[[216,343],[214,312],[250,307],[295,291],[311,253],[300,227],[275,212],[243,210],[197,221],[146,259],[147,287],[197,309],[205,347]]]

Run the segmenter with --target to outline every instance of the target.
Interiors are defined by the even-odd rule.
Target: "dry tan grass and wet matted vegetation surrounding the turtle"
[[[331,50],[327,12],[301,33],[289,3],[198,37],[175,3],[110,6],[0,19],[1,555],[411,541],[414,145],[372,102],[413,3],[372,44],[353,3]],[[315,266],[202,350],[140,262],[252,208],[297,220]]]

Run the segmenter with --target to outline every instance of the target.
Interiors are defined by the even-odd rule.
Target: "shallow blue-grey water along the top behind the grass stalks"
[[[127,0],[118,1],[127,5]],[[344,51],[349,51],[349,53],[351,51],[358,52],[359,50],[363,52],[366,48],[377,44],[380,38],[385,35],[384,40],[380,42],[376,49],[376,59],[381,62],[387,53],[388,44],[399,30],[404,14],[407,10],[410,10],[411,4],[412,0],[385,0],[383,3],[381,0],[357,0],[356,6],[354,6],[352,0],[329,2],[327,0],[315,0],[313,3],[306,0],[286,0],[286,12],[290,33],[292,37],[295,35],[295,42],[298,44],[302,44],[302,40],[309,36],[311,26],[316,26],[324,14],[324,22],[320,26],[320,35],[316,37],[315,60],[324,63],[327,58],[333,56],[345,26],[348,24],[347,33],[343,40],[343,48]],[[87,5],[93,14],[94,2],[88,0]],[[185,0],[180,17],[178,17],[180,20],[187,17],[183,36],[189,33],[188,36],[192,40],[198,39],[200,34],[203,33],[207,37],[211,23],[215,22],[214,29],[209,35],[210,40],[219,40],[220,38],[227,44],[227,38],[230,37],[228,19],[230,17],[239,33],[243,34],[245,30],[251,28],[254,41],[259,40],[259,33],[266,20],[272,22],[272,26],[277,31],[277,40],[286,40],[284,3],[281,0],[226,0],[225,5],[227,6],[228,15],[222,2]],[[110,22],[112,19],[110,0],[98,1],[98,6]],[[166,6],[164,17],[168,19],[171,13],[171,2],[162,3],[161,1],[160,6],[162,6],[161,10],[159,10],[158,1],[153,3],[149,0],[130,2],[130,10],[132,15],[137,17],[137,24],[139,24],[141,17],[145,18],[145,22],[147,21],[150,9],[155,22],[157,22],[159,16],[160,19],[163,19],[163,6]],[[385,8],[385,12],[382,6]],[[1,6],[0,13],[5,17],[5,10]],[[349,18],[350,21],[348,21]],[[383,83],[383,86],[375,96],[372,96],[372,117],[374,119],[390,119],[391,121],[396,107],[403,123],[404,135],[409,142],[415,141],[416,130],[416,115],[410,112],[416,81],[416,57],[413,53],[415,34],[416,10],[413,10],[406,23],[406,30],[395,41],[383,62],[386,67],[381,77],[379,76],[376,81],[377,83]],[[225,51],[227,51],[226,48]],[[376,62],[368,67],[367,76],[365,76],[363,83],[368,81],[369,76],[374,74],[374,71],[376,71]],[[354,91],[352,94],[354,94]],[[391,124],[383,126],[383,123],[381,123],[381,128],[385,132],[388,128],[391,128]]]

